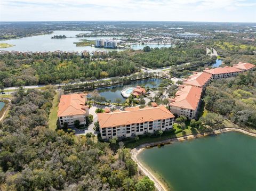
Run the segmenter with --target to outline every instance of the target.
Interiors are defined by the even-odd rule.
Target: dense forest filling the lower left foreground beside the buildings
[[[0,123],[0,190],[154,190],[122,144],[47,128],[54,89],[20,88]]]

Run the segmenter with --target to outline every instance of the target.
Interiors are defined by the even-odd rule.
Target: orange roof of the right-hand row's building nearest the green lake
[[[201,99],[201,94],[202,88],[190,85],[185,86],[177,91],[173,102],[170,103],[170,106],[195,110]]]

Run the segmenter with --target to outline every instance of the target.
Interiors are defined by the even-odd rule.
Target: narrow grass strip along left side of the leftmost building
[[[57,112],[58,112],[58,104],[59,104],[59,92],[57,92],[54,95],[53,98],[53,102],[52,102],[52,109],[50,111],[50,115],[49,115],[49,121],[48,121],[48,125],[49,128],[52,130],[55,130],[57,128]]]

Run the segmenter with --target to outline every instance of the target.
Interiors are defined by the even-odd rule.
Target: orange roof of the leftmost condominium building
[[[87,94],[68,94],[60,97],[58,117],[85,114]]]

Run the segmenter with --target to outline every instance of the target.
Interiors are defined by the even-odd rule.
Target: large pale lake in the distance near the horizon
[[[97,51],[105,50],[112,51],[113,49],[95,48],[93,46],[76,46],[74,42],[80,41],[79,39],[96,40],[96,39],[109,39],[113,37],[84,37],[76,38],[75,36],[80,33],[86,33],[91,31],[73,31],[73,30],[55,30],[53,34],[38,35],[10,40],[0,40],[0,43],[8,43],[15,46],[9,48],[1,48],[4,51]],[[64,39],[52,39],[54,35],[65,35]],[[117,37],[118,38],[118,37]],[[115,49],[118,51],[118,49]]]

